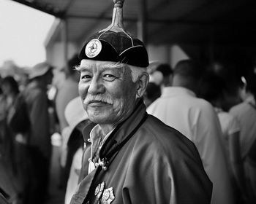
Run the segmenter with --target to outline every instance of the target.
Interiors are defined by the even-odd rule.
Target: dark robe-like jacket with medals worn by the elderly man
[[[113,149],[118,151],[113,151]],[[112,154],[112,156],[109,156]],[[212,184],[195,145],[177,130],[146,114],[139,103],[132,115],[113,130],[88,173],[91,148],[83,157],[82,181],[71,203],[210,203]]]

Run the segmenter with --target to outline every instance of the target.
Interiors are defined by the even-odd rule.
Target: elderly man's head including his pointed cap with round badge
[[[114,1],[112,24],[91,36],[80,51],[79,93],[89,119],[117,125],[135,109],[148,83],[143,42],[123,28],[123,1]]]

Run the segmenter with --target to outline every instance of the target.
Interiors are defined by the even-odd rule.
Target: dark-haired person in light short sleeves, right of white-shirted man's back
[[[214,106],[222,127],[222,136],[225,140],[225,154],[228,158],[228,167],[233,181],[233,191],[236,195],[236,203],[245,202],[247,199],[244,166],[240,151],[240,125],[236,117],[223,110],[225,81],[213,71],[207,71],[200,82],[197,97],[204,98]]]

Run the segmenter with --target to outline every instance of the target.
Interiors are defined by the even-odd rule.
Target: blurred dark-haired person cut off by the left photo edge
[[[1,89],[3,94],[0,96],[0,193],[8,202],[17,203],[20,200],[20,183],[17,179],[19,172],[15,157],[17,149],[7,119],[19,94],[18,82],[13,76],[6,76],[2,79]]]

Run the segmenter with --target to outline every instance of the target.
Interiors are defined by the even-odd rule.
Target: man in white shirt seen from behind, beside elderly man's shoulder
[[[173,70],[172,86],[165,87],[161,97],[151,103],[147,111],[176,128],[197,146],[206,173],[213,182],[211,203],[233,204],[219,119],[211,103],[195,95],[203,71],[202,64],[196,60],[180,60]]]

